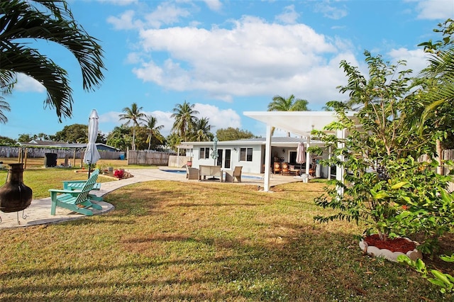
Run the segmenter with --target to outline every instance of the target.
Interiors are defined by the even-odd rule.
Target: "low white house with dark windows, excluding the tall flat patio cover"
[[[271,155],[274,162],[287,162],[295,167],[305,168],[306,164],[299,164],[297,160],[297,147],[299,142],[308,145],[306,138],[292,137],[272,137]],[[216,143],[216,156],[214,156],[214,142],[183,142],[182,145],[192,145],[192,167],[198,168],[200,165],[219,166],[223,169],[233,170],[237,166],[242,166],[242,172],[252,174],[265,173],[265,138],[250,138],[244,140],[227,140]],[[323,142],[311,140],[310,145],[323,147]],[[307,156],[307,152],[306,152]],[[316,160],[327,158],[328,152],[323,152],[321,157],[311,157],[311,162],[316,164]],[[317,177],[328,177],[328,168],[319,167],[316,171]]]

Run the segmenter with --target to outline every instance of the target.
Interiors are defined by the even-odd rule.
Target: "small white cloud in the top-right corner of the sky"
[[[453,0],[423,0],[416,5],[419,19],[437,20],[453,18]]]

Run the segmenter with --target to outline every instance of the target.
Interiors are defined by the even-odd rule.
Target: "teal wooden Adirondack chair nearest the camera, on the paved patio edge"
[[[96,210],[102,210],[102,206],[99,204],[92,203],[89,197],[90,191],[92,191],[96,179],[98,178],[99,169],[94,170],[92,175],[87,179],[84,186],[80,190],[57,190],[50,189],[50,199],[52,206],[50,208],[50,214],[55,215],[57,206],[67,208],[71,211],[81,213],[87,216],[93,216],[93,212],[89,208]]]

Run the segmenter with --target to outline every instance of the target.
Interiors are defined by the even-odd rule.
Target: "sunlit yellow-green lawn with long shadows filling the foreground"
[[[101,216],[1,230],[0,300],[452,301],[362,255],[355,224],[314,223],[323,185],[150,181],[105,196]]]

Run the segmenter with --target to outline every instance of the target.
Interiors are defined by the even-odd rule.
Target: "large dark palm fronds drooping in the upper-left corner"
[[[97,88],[104,79],[103,50],[74,20],[66,0],[0,1],[0,90],[11,94],[18,73],[32,77],[45,86],[45,106],[55,108],[61,122],[62,117],[72,116],[68,74],[30,47],[31,40],[47,40],[70,50],[79,62],[87,91]]]

